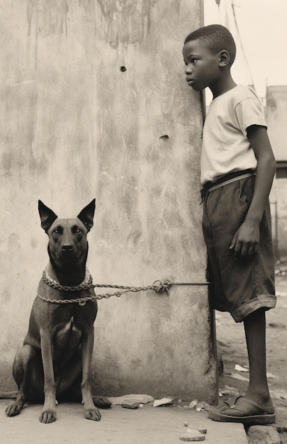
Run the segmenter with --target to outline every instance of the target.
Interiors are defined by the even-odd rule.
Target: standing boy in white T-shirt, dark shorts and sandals
[[[276,304],[269,209],[276,163],[257,95],[230,74],[235,52],[232,35],[220,25],[193,31],[183,48],[186,82],[213,93],[201,151],[210,301],[244,322],[249,357],[246,394],[210,410],[209,417],[266,424],[275,421],[266,379],[265,311]]]

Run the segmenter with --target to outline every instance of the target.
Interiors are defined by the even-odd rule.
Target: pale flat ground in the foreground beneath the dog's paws
[[[247,444],[242,424],[218,423],[208,419],[206,411],[179,406],[146,404],[130,410],[116,405],[101,410],[101,421],[96,422],[84,418],[80,404],[63,403],[57,406],[57,421],[43,424],[38,420],[42,406],[28,406],[8,418],[8,403],[0,400],[1,444],[180,444],[189,427],[206,429],[207,444]]]

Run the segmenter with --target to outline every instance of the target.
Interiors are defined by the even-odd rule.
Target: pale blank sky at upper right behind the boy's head
[[[266,86],[287,85],[287,0],[221,2],[223,8],[225,4],[227,7],[234,4],[240,39],[257,94],[264,97]],[[203,0],[203,4],[205,25],[221,23],[226,26],[220,21],[215,0]],[[238,48],[240,42],[236,43]],[[244,70],[240,60],[239,57],[232,67],[232,76],[235,82],[248,84],[248,70]]]

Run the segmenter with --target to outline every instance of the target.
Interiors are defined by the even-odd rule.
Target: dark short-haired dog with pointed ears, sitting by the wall
[[[13,361],[18,392],[6,409],[8,416],[18,415],[27,401],[44,403],[42,423],[56,421],[56,404],[61,400],[81,402],[85,418],[93,421],[101,419],[96,406],[111,407],[108,399],[91,395],[97,304],[86,270],[86,235],[94,225],[95,209],[94,199],[77,218],[58,218],[38,201],[41,226],[49,238],[50,262],[33,302],[23,347]],[[80,284],[84,289],[77,289]]]

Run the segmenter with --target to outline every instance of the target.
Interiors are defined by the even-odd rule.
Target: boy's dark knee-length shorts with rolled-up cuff
[[[210,303],[214,309],[229,311],[236,322],[257,309],[276,305],[269,201],[260,224],[258,252],[236,261],[229,249],[252,201],[254,182],[254,176],[237,179],[207,192],[203,202]]]

